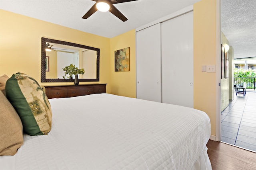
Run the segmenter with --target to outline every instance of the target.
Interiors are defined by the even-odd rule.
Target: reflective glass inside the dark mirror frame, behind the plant
[[[46,51],[46,57],[49,57],[49,68],[52,69],[46,71],[46,78],[63,78],[62,68],[70,64],[75,65],[78,69],[84,68],[86,74],[79,74],[79,78],[96,78],[96,51],[56,43],[49,43],[49,45],[52,47]]]

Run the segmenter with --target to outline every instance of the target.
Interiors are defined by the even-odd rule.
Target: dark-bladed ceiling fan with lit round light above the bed
[[[116,7],[114,7],[113,4],[123,3],[123,2],[130,2],[130,1],[136,1],[136,0],[93,0],[96,1],[96,3],[84,14],[82,17],[83,19],[89,18],[94,12],[97,10],[106,12],[109,11],[112,14],[114,14],[117,18],[119,18],[122,21],[127,21],[128,19],[120,12]]]

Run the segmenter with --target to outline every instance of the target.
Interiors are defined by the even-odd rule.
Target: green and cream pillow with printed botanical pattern
[[[52,109],[46,94],[34,78],[16,73],[5,86],[6,98],[17,111],[24,132],[28,135],[47,135],[52,127]]]

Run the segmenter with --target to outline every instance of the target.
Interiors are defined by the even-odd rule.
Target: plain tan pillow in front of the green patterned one
[[[22,143],[20,117],[0,91],[0,155],[14,155]]]

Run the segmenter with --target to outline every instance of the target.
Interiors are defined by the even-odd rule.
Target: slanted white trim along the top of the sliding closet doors
[[[154,21],[152,21],[152,22],[150,22],[150,23],[147,23],[147,24],[145,24],[145,25],[142,25],[141,27],[136,28],[135,31],[136,31],[136,32],[137,32],[137,31],[140,31],[140,30],[145,29],[145,28],[147,28],[147,27],[150,27],[150,26],[152,26],[152,25],[156,25],[156,24],[158,24],[158,23],[162,23],[162,22],[164,22],[164,21],[167,21],[167,20],[170,20],[170,19],[172,19],[172,18],[181,16],[181,15],[186,14],[186,13],[191,12],[191,11],[193,11],[193,5],[190,5],[190,6],[186,7],[186,8],[183,8],[183,9],[181,9],[181,10],[178,10],[178,11],[172,13],[172,14],[169,14],[169,15],[167,15],[167,16],[164,16],[164,17],[162,17],[162,18],[159,18],[159,19],[157,19],[157,20],[154,20]]]

